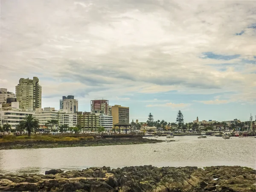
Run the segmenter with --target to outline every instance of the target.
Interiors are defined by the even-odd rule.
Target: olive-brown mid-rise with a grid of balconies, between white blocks
[[[77,112],[77,124],[84,131],[97,131],[99,125],[99,115],[90,112]]]

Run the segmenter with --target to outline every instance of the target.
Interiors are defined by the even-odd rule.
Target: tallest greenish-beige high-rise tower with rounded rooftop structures
[[[39,79],[21,78],[16,86],[16,98],[20,108],[35,111],[36,108],[41,108],[42,105],[42,87],[38,84]]]

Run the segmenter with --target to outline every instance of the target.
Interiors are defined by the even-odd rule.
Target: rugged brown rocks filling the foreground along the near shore
[[[0,175],[0,191],[255,192],[255,170],[240,166],[131,166],[90,168],[46,175]]]

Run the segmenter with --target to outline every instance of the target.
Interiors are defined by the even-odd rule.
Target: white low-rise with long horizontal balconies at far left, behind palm
[[[4,124],[8,123],[12,126],[12,129],[14,129],[26,116],[35,114],[34,111],[19,109],[19,102],[12,102],[11,105],[8,105],[7,107],[4,107],[3,105],[0,104],[0,125],[2,127]]]

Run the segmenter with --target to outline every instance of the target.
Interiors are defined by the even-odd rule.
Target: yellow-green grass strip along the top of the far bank
[[[61,136],[13,136],[6,135],[0,139],[0,143],[14,142],[14,141],[79,141],[91,140],[93,137],[61,137]]]

